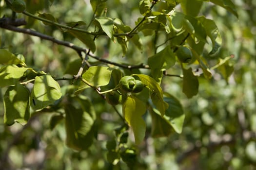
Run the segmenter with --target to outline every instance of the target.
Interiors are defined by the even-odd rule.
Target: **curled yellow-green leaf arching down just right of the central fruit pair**
[[[165,110],[168,108],[168,103],[163,101],[163,91],[158,82],[145,74],[133,74],[132,76],[138,76],[140,81],[146,85],[146,88],[149,89],[152,102],[160,112],[161,116],[163,116]]]

